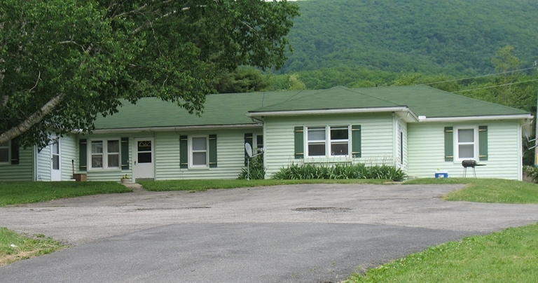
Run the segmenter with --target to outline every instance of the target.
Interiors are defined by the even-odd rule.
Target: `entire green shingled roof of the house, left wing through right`
[[[528,114],[508,106],[483,102],[424,85],[345,88],[284,92],[208,95],[202,116],[189,114],[172,102],[155,97],[125,102],[119,113],[98,118],[96,129],[256,124],[247,113],[310,109],[371,109],[407,106],[417,116],[498,116]]]

